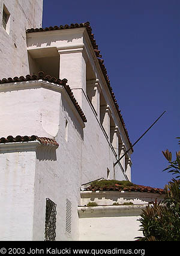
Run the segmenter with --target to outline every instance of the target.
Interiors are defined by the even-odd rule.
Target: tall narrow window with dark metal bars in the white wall
[[[56,240],[56,204],[46,198],[46,222],[44,241]]]

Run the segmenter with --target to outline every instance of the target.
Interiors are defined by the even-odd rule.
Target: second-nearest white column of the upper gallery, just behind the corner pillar
[[[98,120],[100,120],[100,84],[99,80],[87,80],[86,81],[86,93],[90,99],[96,113]]]

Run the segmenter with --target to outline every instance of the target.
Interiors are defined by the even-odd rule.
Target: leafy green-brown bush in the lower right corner
[[[178,138],[180,139],[180,138]],[[176,152],[176,160],[172,161],[172,153],[163,152],[169,161],[164,169],[173,175],[180,175],[180,151]],[[180,180],[174,178],[164,187],[163,202],[151,202],[140,214],[140,230],[144,237],[136,237],[144,241],[179,241],[180,240]]]

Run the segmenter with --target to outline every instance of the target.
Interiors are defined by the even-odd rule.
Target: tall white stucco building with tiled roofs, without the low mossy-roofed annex
[[[42,14],[43,0],[0,0],[0,240],[83,240],[81,185],[131,181],[89,22],[43,29]]]

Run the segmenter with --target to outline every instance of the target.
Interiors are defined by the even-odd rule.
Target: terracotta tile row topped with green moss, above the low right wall
[[[89,186],[86,188],[87,191],[129,191],[129,192],[148,192],[148,193],[164,193],[164,189],[157,189],[154,187],[142,186],[142,185],[134,185],[128,187],[122,187],[119,184],[115,184],[115,186]]]

